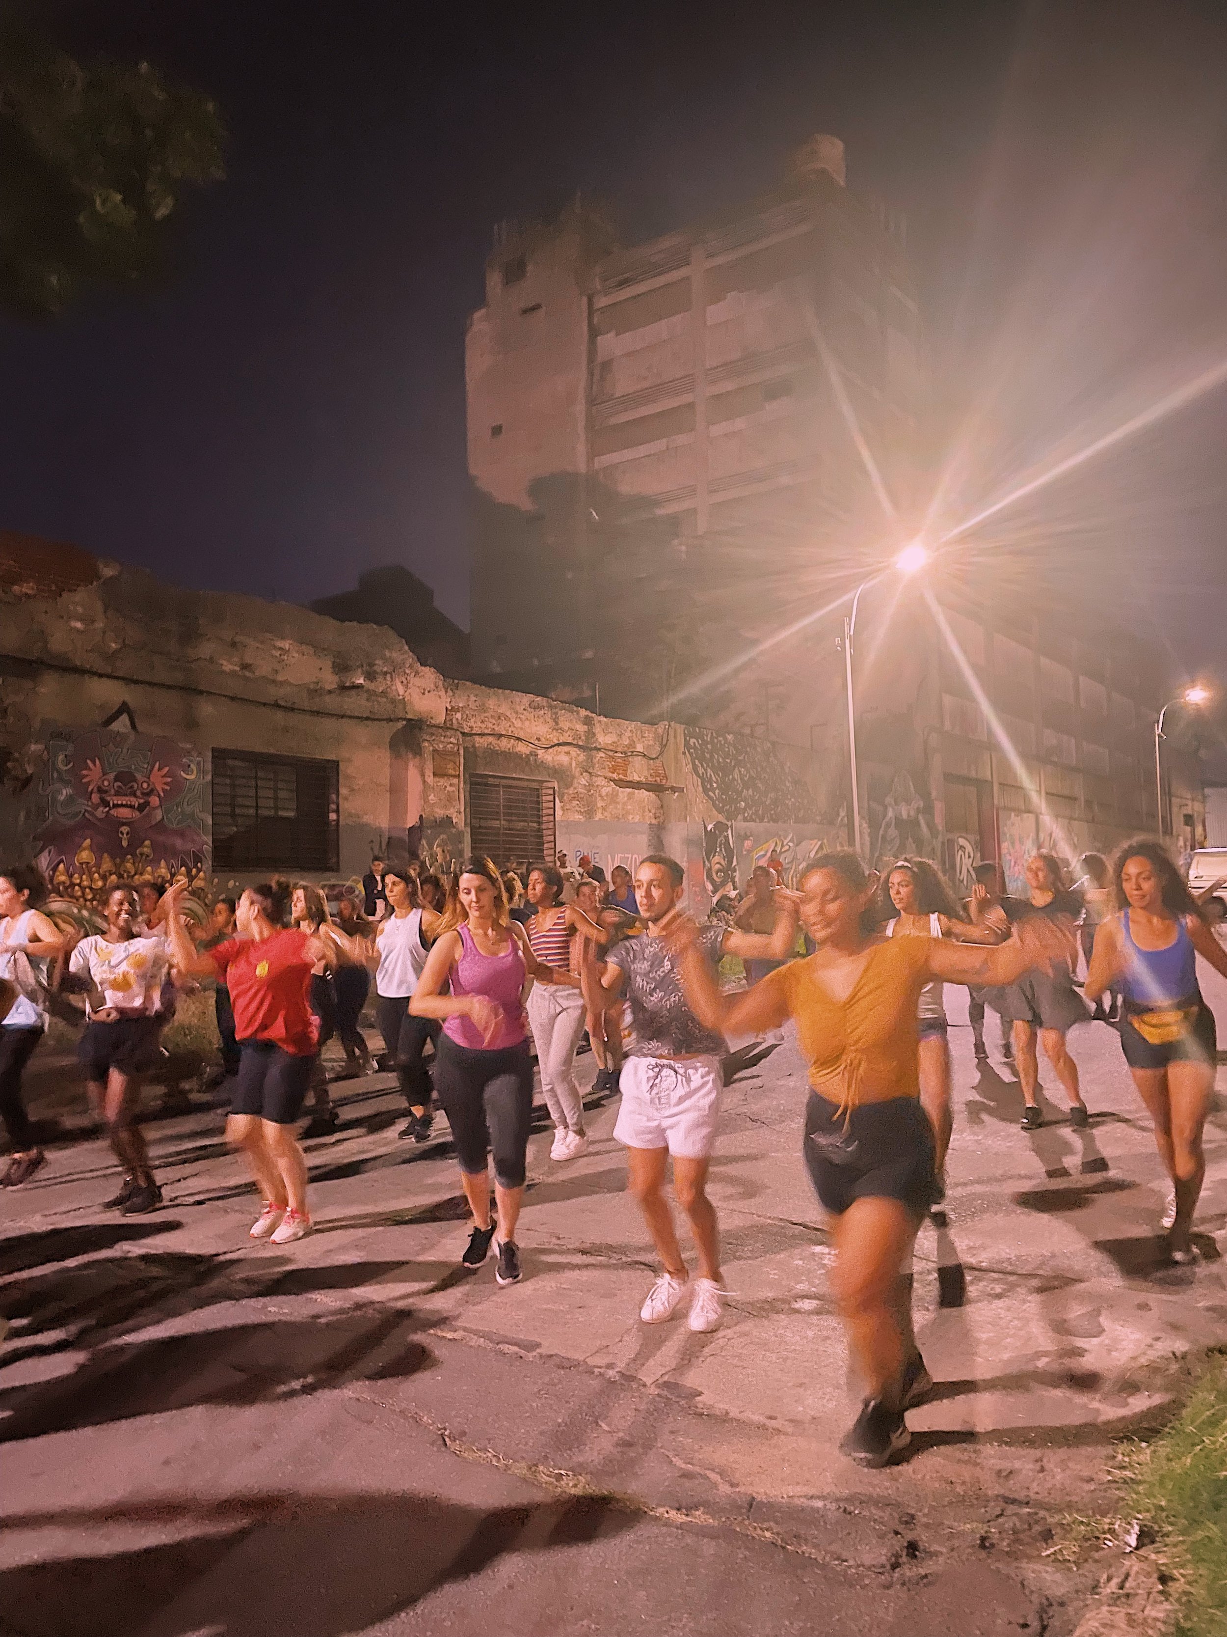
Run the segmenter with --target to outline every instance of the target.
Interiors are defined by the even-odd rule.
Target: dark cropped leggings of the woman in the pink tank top
[[[440,1035],[435,1092],[452,1126],[460,1169],[484,1177],[494,1149],[494,1180],[502,1188],[522,1188],[533,1112],[528,1041],[501,1051],[471,1051]]]

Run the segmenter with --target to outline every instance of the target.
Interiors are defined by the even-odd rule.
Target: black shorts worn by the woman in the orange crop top
[[[810,1092],[805,1164],[833,1216],[852,1200],[898,1200],[926,1211],[937,1198],[933,1126],[915,1097],[864,1103],[844,1125],[836,1103]]]

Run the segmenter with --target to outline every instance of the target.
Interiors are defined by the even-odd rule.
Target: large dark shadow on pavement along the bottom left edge
[[[605,1495],[481,1508],[420,1495],[283,1493],[5,1521],[21,1529],[88,1531],[119,1521],[147,1522],[151,1532],[200,1531],[5,1570],[0,1608],[20,1617],[21,1637],[342,1637],[391,1621],[435,1586],[501,1557],[609,1539],[633,1527],[636,1514]],[[568,1570],[560,1565],[560,1573]]]

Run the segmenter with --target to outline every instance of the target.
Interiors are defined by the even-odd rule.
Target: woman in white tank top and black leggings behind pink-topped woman
[[[438,915],[422,909],[407,869],[389,864],[383,889],[389,913],[375,933],[375,1012],[388,1056],[396,1066],[401,1090],[409,1103],[409,1123],[401,1136],[425,1143],[430,1136],[430,1072],[424,1062],[425,1043],[438,1039],[437,1018],[409,1015],[409,999],[417,989],[427,953],[435,940]]]

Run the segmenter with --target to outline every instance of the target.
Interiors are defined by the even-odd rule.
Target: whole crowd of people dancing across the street
[[[581,859],[582,874],[564,864],[535,864],[522,881],[470,858],[443,882],[376,859],[362,905],[347,899],[332,915],[317,887],[273,882],[218,900],[206,925],[188,917],[185,882],[144,902],[116,886],[105,931],[90,936],[65,935],[46,913],[36,869],[0,873],[0,1116],[11,1148],[0,1185],[20,1187],[46,1162],[21,1077],[49,1010],[80,1007],[80,1061],[121,1167],[106,1203],[155,1210],[141,1079],[175,995],[206,981],[229,1089],[226,1138],[262,1197],[250,1234],[301,1239],[311,1211],[298,1125],[308,1098],[304,1134],[335,1125],[321,1062],[327,1039],[340,1039],[352,1072],[371,1066],[360,1017],[373,982],[384,1062],[409,1110],[399,1134],[429,1143],[435,1102],[448,1121],[471,1210],[461,1262],[476,1269],[492,1252],[496,1280],[520,1280],[530,1041],[555,1125],[550,1161],[568,1164],[589,1146],[576,1076],[587,1031],[594,1090],[620,1094],[614,1136],[659,1257],[640,1318],[654,1324],[685,1306],[690,1329],[710,1331],[725,1295],[707,1177],[726,1039],[793,1023],[810,1079],[805,1166],[833,1231],[834,1297],[865,1393],[843,1447],[879,1467],[906,1445],[905,1413],[933,1387],[913,1333],[910,1267],[916,1233],[946,1193],[942,992],[964,984],[977,1058],[987,1054],[987,1008],[1001,1018],[1026,1130],[1044,1120],[1039,1051],[1068,1097],[1070,1123],[1088,1123],[1068,1030],[1091,1015],[1088,1002],[1114,1021],[1171,1182],[1162,1220],[1170,1254],[1194,1257],[1216,1072],[1196,956],[1227,977],[1227,954],[1162,846],[1129,843],[1111,866],[1090,855],[1076,887],[1060,859],[1037,853],[1018,897],[1001,892],[995,866],[980,866],[965,902],[926,859],[900,859],[879,876],[852,853],[828,853],[797,891],[756,869],[731,923],[685,915],[684,869],[664,855],[641,859],[633,879],[618,868],[609,882],[591,859]],[[743,963],[744,987],[721,982],[726,956]]]

